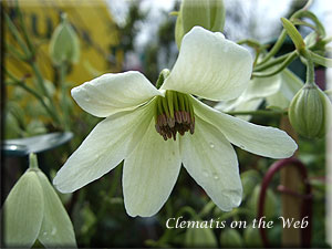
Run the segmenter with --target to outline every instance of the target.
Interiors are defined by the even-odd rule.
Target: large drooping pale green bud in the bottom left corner
[[[29,169],[10,190],[3,211],[7,247],[31,248],[35,240],[45,248],[76,247],[70,217],[33,154]]]

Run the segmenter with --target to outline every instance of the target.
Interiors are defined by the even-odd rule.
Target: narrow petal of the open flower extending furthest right
[[[271,158],[286,158],[298,148],[295,142],[281,129],[251,124],[191,98],[195,114],[214,124],[230,143],[245,151]]]

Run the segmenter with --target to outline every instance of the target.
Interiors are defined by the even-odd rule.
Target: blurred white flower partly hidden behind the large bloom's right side
[[[303,86],[303,82],[290,70],[270,77],[250,80],[247,90],[236,100],[222,101],[215,108],[222,112],[247,112],[257,110],[263,101],[269,106],[287,108],[293,96]],[[249,120],[250,116],[240,116]]]

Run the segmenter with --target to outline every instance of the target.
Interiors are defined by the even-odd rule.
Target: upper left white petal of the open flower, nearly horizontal
[[[76,103],[92,115],[106,117],[134,110],[153,96],[163,95],[142,73],[107,73],[72,89]]]

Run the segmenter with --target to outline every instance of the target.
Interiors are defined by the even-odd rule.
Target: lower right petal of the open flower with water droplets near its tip
[[[180,137],[184,166],[221,210],[230,211],[242,197],[237,155],[216,127],[199,117],[195,122],[194,135]]]

